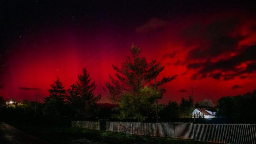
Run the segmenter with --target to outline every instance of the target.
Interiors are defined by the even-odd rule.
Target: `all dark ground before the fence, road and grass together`
[[[56,126],[25,126],[15,125],[16,128],[1,123],[0,144],[23,143],[23,144],[212,144],[193,140],[182,140],[172,138],[155,138],[122,134],[118,132],[93,131],[87,129],[76,129],[70,127]],[[26,133],[30,134],[26,134]],[[33,136],[41,139],[37,139]],[[44,141],[43,141],[44,140]]]

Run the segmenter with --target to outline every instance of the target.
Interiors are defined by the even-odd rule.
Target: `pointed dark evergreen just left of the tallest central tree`
[[[84,116],[92,116],[96,112],[96,103],[100,100],[101,95],[94,96],[93,91],[96,88],[95,81],[91,82],[92,78],[84,68],[82,74],[78,74],[78,80],[76,82],[77,95],[80,98],[81,107]],[[83,116],[83,117],[84,117]]]

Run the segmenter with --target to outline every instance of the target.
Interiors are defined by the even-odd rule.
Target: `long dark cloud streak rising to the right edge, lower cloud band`
[[[247,64],[246,68],[236,67],[243,63]],[[236,54],[231,58],[221,59],[216,62],[211,62],[210,60],[207,60],[205,62],[190,63],[187,65],[187,68],[197,70],[197,73],[191,77],[192,79],[197,79],[198,76],[203,76],[202,78],[204,78],[206,77],[205,75],[209,74],[209,76],[215,79],[220,79],[220,77],[223,76],[224,80],[230,80],[233,79],[235,76],[250,74],[256,71],[256,45],[245,48],[244,51]],[[220,72],[214,73],[214,71],[216,70]],[[227,73],[222,75],[221,72]]]

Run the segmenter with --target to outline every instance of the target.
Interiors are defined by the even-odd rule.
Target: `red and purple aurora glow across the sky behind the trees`
[[[92,32],[93,31],[93,32]],[[120,65],[129,56],[132,43],[148,61],[165,69],[159,76],[178,75],[165,85],[161,103],[180,102],[194,87],[195,101],[252,92],[256,80],[256,19],[247,11],[222,11],[151,17],[119,30],[99,27],[52,27],[20,34],[4,67],[0,89],[5,99],[42,101],[50,84],[60,78],[65,88],[87,68],[96,81],[100,103],[109,102],[102,87],[115,75],[111,64]],[[20,88],[25,87],[28,89]],[[33,90],[29,88],[38,88]]]

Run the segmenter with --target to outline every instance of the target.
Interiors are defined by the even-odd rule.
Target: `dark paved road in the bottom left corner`
[[[0,122],[0,144],[49,144],[25,132]]]

